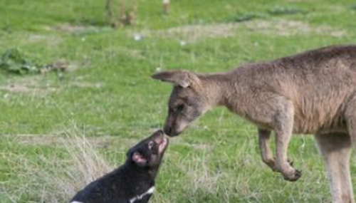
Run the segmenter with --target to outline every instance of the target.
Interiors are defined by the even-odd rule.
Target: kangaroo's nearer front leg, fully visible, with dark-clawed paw
[[[302,175],[299,170],[295,170],[287,158],[287,151],[290,138],[293,132],[293,103],[285,100],[278,103],[278,110],[275,115],[274,130],[276,132],[276,170],[281,172],[284,179],[296,181]]]

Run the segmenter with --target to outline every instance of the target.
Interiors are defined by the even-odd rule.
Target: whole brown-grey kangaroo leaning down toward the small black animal
[[[284,179],[301,172],[288,161],[292,133],[314,134],[330,179],[333,203],[355,203],[350,179],[356,146],[356,46],[328,46],[227,73],[165,71],[174,84],[164,132],[179,135],[209,109],[224,105],[258,129],[263,162]],[[269,140],[276,134],[276,158]]]

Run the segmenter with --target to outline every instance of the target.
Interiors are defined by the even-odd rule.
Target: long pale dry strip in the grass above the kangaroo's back
[[[254,20],[229,24],[189,25],[168,28],[159,31],[142,31],[145,37],[178,38],[188,43],[199,41],[202,38],[226,38],[239,33],[239,29],[246,28],[253,33],[273,34],[277,36],[295,36],[305,34],[318,34],[324,36],[344,37],[347,31],[331,26],[311,26],[303,21]],[[130,33],[132,35],[132,33]]]

